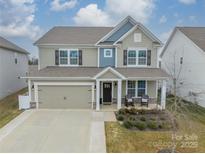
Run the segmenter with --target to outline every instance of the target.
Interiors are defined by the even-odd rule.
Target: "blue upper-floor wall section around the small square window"
[[[112,57],[104,57],[104,49],[112,49]],[[100,48],[100,67],[115,67],[115,48]]]

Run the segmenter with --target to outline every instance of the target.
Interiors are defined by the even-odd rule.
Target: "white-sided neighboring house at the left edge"
[[[0,36],[0,99],[27,86],[28,52]]]

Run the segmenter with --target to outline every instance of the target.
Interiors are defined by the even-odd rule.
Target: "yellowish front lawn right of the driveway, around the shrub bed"
[[[189,102],[180,108],[186,116],[177,118],[176,151],[205,152],[205,108]],[[107,152],[157,152],[172,144],[172,131],[132,131],[118,122],[106,122],[105,130]]]

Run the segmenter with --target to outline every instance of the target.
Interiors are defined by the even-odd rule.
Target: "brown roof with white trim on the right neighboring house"
[[[205,52],[205,27],[175,27],[169,39],[167,40],[160,57],[163,56],[167,46],[169,45],[177,30],[182,32],[187,38],[189,38],[194,44],[196,44]]]

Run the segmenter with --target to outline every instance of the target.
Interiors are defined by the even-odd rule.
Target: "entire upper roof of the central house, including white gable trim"
[[[135,21],[131,16],[127,16],[115,27],[75,27],[75,26],[57,26],[49,30],[34,45],[113,45],[115,42],[103,42],[124,24],[130,22],[138,25],[141,30],[150,37],[155,43],[162,44],[145,26]],[[131,28],[132,29],[132,28]],[[128,29],[128,32],[131,30]],[[127,34],[127,32],[125,33]],[[121,37],[123,37],[123,34]]]

